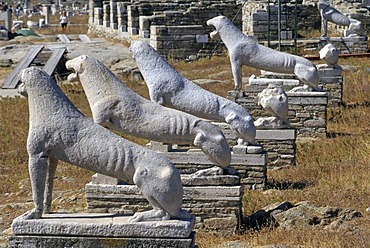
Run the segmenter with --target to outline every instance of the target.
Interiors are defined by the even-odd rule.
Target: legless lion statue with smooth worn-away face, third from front
[[[134,42],[130,50],[153,102],[200,118],[226,122],[238,138],[255,143],[256,128],[246,109],[183,77],[148,43]]]

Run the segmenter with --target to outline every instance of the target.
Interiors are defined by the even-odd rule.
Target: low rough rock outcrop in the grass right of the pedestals
[[[324,229],[345,229],[346,222],[362,217],[355,209],[319,207],[303,201],[296,205],[290,202],[275,203],[245,218],[247,229],[276,227],[282,229],[324,227]]]

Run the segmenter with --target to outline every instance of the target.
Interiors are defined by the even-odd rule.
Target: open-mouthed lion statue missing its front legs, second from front
[[[96,123],[144,139],[200,147],[217,166],[227,168],[230,147],[221,130],[195,116],[165,108],[136,94],[93,57],[66,62],[74,70],[69,81],[80,81]]]

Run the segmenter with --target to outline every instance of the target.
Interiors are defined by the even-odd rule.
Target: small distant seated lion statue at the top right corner
[[[332,22],[339,26],[348,27],[348,30],[346,30],[345,34],[346,36],[364,35],[364,27],[359,20],[343,15],[337,9],[331,7],[328,1],[319,0],[318,8],[320,11],[324,29],[324,33],[321,35],[322,37],[328,36],[328,22]]]

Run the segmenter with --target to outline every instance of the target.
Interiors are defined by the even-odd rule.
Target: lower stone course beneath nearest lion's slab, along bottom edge
[[[188,238],[102,238],[102,237],[72,237],[72,236],[10,236],[10,248],[86,248],[86,247],[109,247],[109,248],[192,248],[195,247],[195,233]]]

